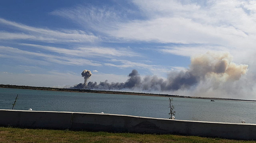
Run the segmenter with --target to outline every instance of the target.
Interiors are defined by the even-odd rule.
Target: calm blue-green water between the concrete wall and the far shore
[[[169,118],[169,98],[137,95],[57,92],[0,88],[0,109],[74,111]],[[175,118],[213,122],[256,124],[256,103],[209,99],[173,98]]]

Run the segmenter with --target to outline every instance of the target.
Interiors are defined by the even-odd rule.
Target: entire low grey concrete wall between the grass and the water
[[[199,122],[138,116],[0,109],[0,126],[139,132],[256,139],[256,124]]]

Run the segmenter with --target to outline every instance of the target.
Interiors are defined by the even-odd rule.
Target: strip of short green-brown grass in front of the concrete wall
[[[220,138],[0,127],[0,143],[241,143]]]

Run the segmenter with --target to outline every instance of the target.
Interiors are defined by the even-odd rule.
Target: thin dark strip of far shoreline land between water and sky
[[[135,93],[127,91],[108,91],[108,90],[90,90],[90,89],[71,89],[71,88],[52,88],[52,87],[37,87],[37,86],[20,86],[11,84],[0,84],[0,88],[15,88],[15,89],[30,89],[30,90],[49,90],[49,91],[63,91],[63,92],[78,92],[78,93],[103,93],[103,94],[119,94],[119,95],[143,95],[143,96],[160,96],[160,97],[179,97],[179,98],[193,98],[193,99],[210,99],[210,100],[231,100],[231,101],[247,101],[256,102],[256,100],[245,99],[230,99],[217,97],[192,97],[183,95],[168,95],[168,94],[154,94],[154,93]]]

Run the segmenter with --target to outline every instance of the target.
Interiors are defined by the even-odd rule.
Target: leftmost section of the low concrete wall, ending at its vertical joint
[[[72,112],[0,110],[0,126],[70,128]]]

